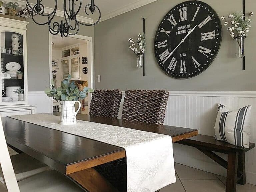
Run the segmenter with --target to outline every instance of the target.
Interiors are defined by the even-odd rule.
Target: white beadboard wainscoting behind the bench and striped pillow
[[[122,103],[119,110],[121,118]],[[256,92],[244,91],[169,91],[165,125],[198,129],[199,134],[214,135],[218,104],[230,109],[252,105],[250,142],[256,143]],[[227,159],[225,154],[220,154]],[[175,162],[226,176],[226,169],[197,149],[174,144]],[[256,185],[256,149],[246,152],[246,182]]]

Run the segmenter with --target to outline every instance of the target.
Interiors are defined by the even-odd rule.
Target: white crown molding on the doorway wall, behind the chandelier
[[[9,3],[9,2],[12,2],[13,0],[2,0],[4,3]],[[19,2],[19,6],[20,7],[25,7],[26,6],[26,1],[21,1],[21,0],[15,0],[15,2]],[[34,3],[30,3],[30,5],[35,5]],[[53,8],[50,8],[50,7],[44,7],[44,13],[51,13],[53,12]],[[39,15],[40,16],[40,15]],[[64,12],[63,11],[60,11],[60,10],[57,10],[56,11],[56,16],[59,16],[59,17],[64,17]],[[80,16],[80,15],[77,15],[77,20],[78,21],[81,21],[81,22],[84,22],[84,23],[88,23],[88,24],[93,24],[93,19],[91,18],[88,18],[88,17],[83,17],[83,16]]]

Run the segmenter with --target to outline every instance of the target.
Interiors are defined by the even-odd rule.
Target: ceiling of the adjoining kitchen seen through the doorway
[[[52,47],[60,49],[78,43],[87,44],[87,41],[76,39],[74,37],[65,37],[65,41],[63,41],[63,38],[60,35],[52,35],[52,43],[54,43]]]

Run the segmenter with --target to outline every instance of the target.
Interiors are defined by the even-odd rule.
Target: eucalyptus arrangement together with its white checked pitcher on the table
[[[54,97],[56,101],[60,101],[61,114],[60,124],[61,125],[73,125],[76,124],[76,115],[81,108],[80,99],[87,97],[87,93],[92,93],[94,90],[85,87],[83,91],[79,91],[75,82],[70,82],[71,75],[68,75],[67,79],[61,82],[61,87],[57,89],[54,86],[54,80],[52,79],[50,88],[45,89],[45,94],[48,97]],[[79,104],[79,108],[75,111],[75,103]]]

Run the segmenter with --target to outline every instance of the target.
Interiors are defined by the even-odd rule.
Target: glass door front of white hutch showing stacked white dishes
[[[1,91],[2,104],[24,103],[23,35],[1,32]],[[26,93],[26,90],[25,90]],[[25,97],[24,97],[25,96]]]

